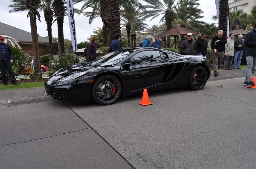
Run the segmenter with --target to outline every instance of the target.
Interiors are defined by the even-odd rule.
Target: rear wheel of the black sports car
[[[189,88],[192,90],[201,90],[206,85],[208,76],[204,67],[197,66],[193,69],[189,77]]]

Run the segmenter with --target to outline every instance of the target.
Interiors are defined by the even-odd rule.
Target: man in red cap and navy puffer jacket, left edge
[[[9,73],[11,77],[12,84],[19,84],[16,82],[15,75],[12,71],[12,63],[13,63],[13,53],[12,48],[8,44],[4,43],[4,37],[0,36],[0,69],[2,76],[2,85],[7,85],[7,76],[5,73],[5,69]]]

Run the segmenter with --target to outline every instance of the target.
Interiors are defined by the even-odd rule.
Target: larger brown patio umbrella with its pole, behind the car
[[[179,35],[187,35],[189,32],[192,33],[192,34],[200,33],[200,32],[196,32],[196,31],[193,31],[191,29],[184,28],[184,27],[181,27],[181,26],[175,26],[175,27],[169,29],[168,31],[165,31],[164,33],[161,33],[159,36],[176,36],[177,37],[176,48],[178,50],[178,36]]]

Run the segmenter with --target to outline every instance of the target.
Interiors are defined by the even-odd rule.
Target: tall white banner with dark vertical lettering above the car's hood
[[[68,6],[68,22],[69,22],[69,29],[70,29],[70,36],[72,41],[73,50],[77,50],[76,44],[76,27],[75,27],[75,18],[74,18],[74,8],[73,8],[73,0],[67,0]]]

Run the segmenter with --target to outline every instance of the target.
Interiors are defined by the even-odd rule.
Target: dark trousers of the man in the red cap
[[[1,69],[2,83],[7,83],[7,76],[6,76],[5,69],[9,73],[12,83],[16,82],[15,75],[12,72],[12,64],[10,60],[0,61],[0,69]]]

